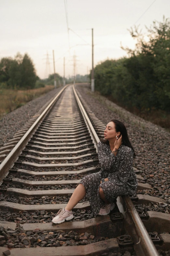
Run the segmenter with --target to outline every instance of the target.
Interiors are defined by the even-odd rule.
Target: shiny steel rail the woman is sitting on
[[[93,133],[93,137],[95,138],[96,143],[98,143],[100,141],[99,137],[97,136],[97,133],[95,132],[92,123],[78,97],[78,94],[76,93],[75,87],[73,85],[73,91],[75,93],[75,97],[77,99],[78,105],[81,108],[81,111],[83,112],[86,121],[88,122],[88,125],[91,129],[91,132]],[[122,196],[122,198],[124,199],[128,212],[131,215],[131,218],[133,220],[133,223],[135,225],[135,229],[136,232],[139,236],[139,247],[142,247],[143,251],[145,252],[145,256],[159,256],[158,251],[156,250],[152,240],[149,237],[149,234],[141,220],[141,218],[139,217],[134,204],[132,203],[132,200],[129,198],[129,196]],[[137,243],[136,243],[137,244]]]

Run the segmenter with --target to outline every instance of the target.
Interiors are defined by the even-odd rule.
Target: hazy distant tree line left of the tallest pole
[[[76,82],[87,82],[88,76],[76,75]],[[57,86],[63,85],[63,77],[56,74]],[[65,79],[66,84],[73,83],[74,77]],[[40,79],[36,75],[33,61],[28,54],[17,53],[15,58],[6,57],[0,60],[0,88],[5,89],[33,89],[54,85],[54,74],[48,78]]]

